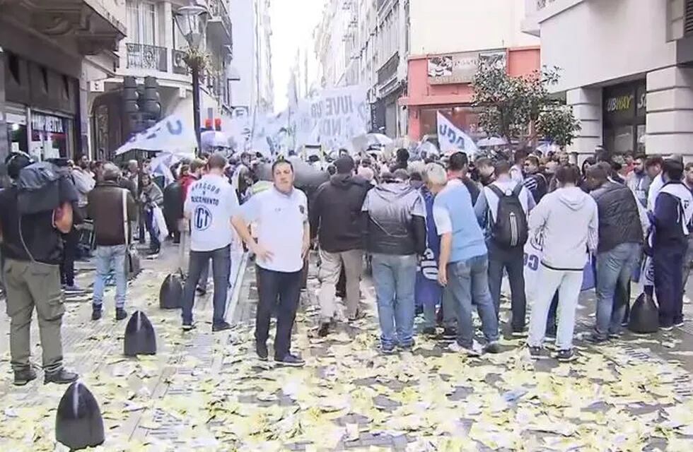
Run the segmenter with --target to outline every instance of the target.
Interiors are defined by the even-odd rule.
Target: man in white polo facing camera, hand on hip
[[[293,187],[293,165],[277,160],[272,165],[274,185],[250,197],[234,216],[233,226],[257,258],[257,304],[255,350],[263,361],[268,359],[269,319],[276,305],[274,361],[301,367],[305,362],[291,354],[291,328],[296,319],[301,295],[303,258],[310,246],[308,199]],[[248,224],[254,223],[257,242]],[[276,304],[279,298],[279,304]]]

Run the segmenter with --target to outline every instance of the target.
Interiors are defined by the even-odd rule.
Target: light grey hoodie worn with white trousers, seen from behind
[[[585,267],[598,244],[597,203],[576,186],[557,189],[530,213],[530,237],[542,244],[542,264],[553,270]]]

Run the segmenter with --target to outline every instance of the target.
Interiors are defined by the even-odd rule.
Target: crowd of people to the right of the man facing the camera
[[[334,166],[337,174],[320,187],[310,209],[324,263],[320,335],[334,326],[332,287],[342,266],[347,319],[355,318],[362,254],[372,261],[385,353],[412,347],[417,312],[424,316],[421,333],[454,340],[452,350],[498,352],[505,273],[511,292],[506,332],[528,335],[537,359],[548,357],[545,338],[555,338],[555,357],[570,361],[586,265],[595,273],[597,299],[595,327],[586,339],[600,344],[627,325],[631,276],[643,256],[650,262],[643,273],[653,274],[644,291],[656,296],[660,328],[683,324],[693,165],[684,167],[680,157],[610,157],[598,148],[580,169],[567,153],[532,149],[474,162],[461,152],[412,161],[400,150],[390,167],[368,157],[342,157]],[[527,319],[524,247],[530,239],[541,260]],[[423,271],[417,273],[417,265]],[[417,287],[426,285],[422,275],[436,273],[437,288]],[[483,346],[474,338],[473,306]]]

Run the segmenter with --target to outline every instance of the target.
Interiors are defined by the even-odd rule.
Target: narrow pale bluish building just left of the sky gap
[[[233,40],[231,106],[235,114],[265,114],[274,109],[270,0],[231,0]]]

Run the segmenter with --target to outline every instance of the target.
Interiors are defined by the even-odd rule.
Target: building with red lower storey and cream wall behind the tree
[[[476,138],[472,78],[482,59],[494,59],[512,76],[540,69],[536,37],[523,34],[519,1],[409,1],[406,109],[409,137],[436,134],[437,112]]]

